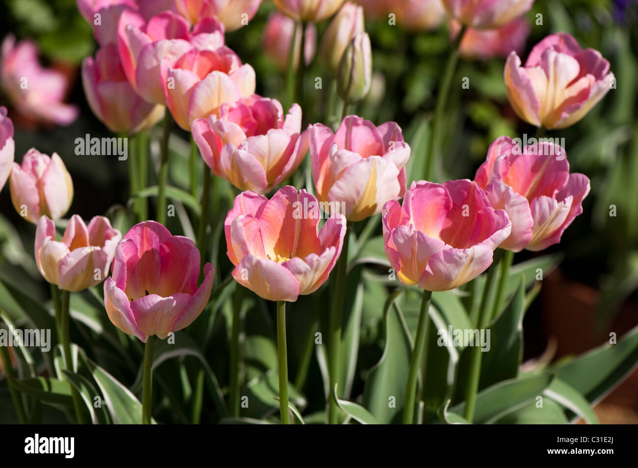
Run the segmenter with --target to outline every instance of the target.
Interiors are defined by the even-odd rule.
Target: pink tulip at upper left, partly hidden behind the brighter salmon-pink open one
[[[118,23],[117,45],[126,78],[142,98],[165,104],[161,62],[170,64],[193,48],[218,48],[224,43],[223,24],[207,18],[193,31],[185,18],[163,11],[146,21],[140,13],[125,10]]]

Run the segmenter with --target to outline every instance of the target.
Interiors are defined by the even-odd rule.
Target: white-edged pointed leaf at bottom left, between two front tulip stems
[[[142,403],[128,388],[119,383],[115,377],[91,360],[87,361],[91,374],[95,379],[104,404],[114,424],[141,424]],[[155,423],[155,421],[152,421]]]

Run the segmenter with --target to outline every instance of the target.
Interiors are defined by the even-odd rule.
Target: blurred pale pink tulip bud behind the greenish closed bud
[[[334,77],[337,73],[341,55],[350,40],[363,30],[363,7],[350,2],[345,3],[332,18],[319,48],[319,59],[330,76]]]

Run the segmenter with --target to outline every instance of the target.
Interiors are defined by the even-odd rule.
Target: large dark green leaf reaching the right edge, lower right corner
[[[638,366],[638,326],[617,344],[598,346],[584,355],[561,362],[549,370],[595,404],[612,391]]]

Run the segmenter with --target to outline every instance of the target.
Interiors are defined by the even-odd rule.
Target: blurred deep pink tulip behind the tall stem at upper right
[[[455,37],[461,25],[452,21],[452,36]],[[530,35],[530,24],[519,17],[498,29],[466,29],[459,46],[461,55],[470,59],[489,60],[493,57],[507,57],[512,50],[519,54]]]

